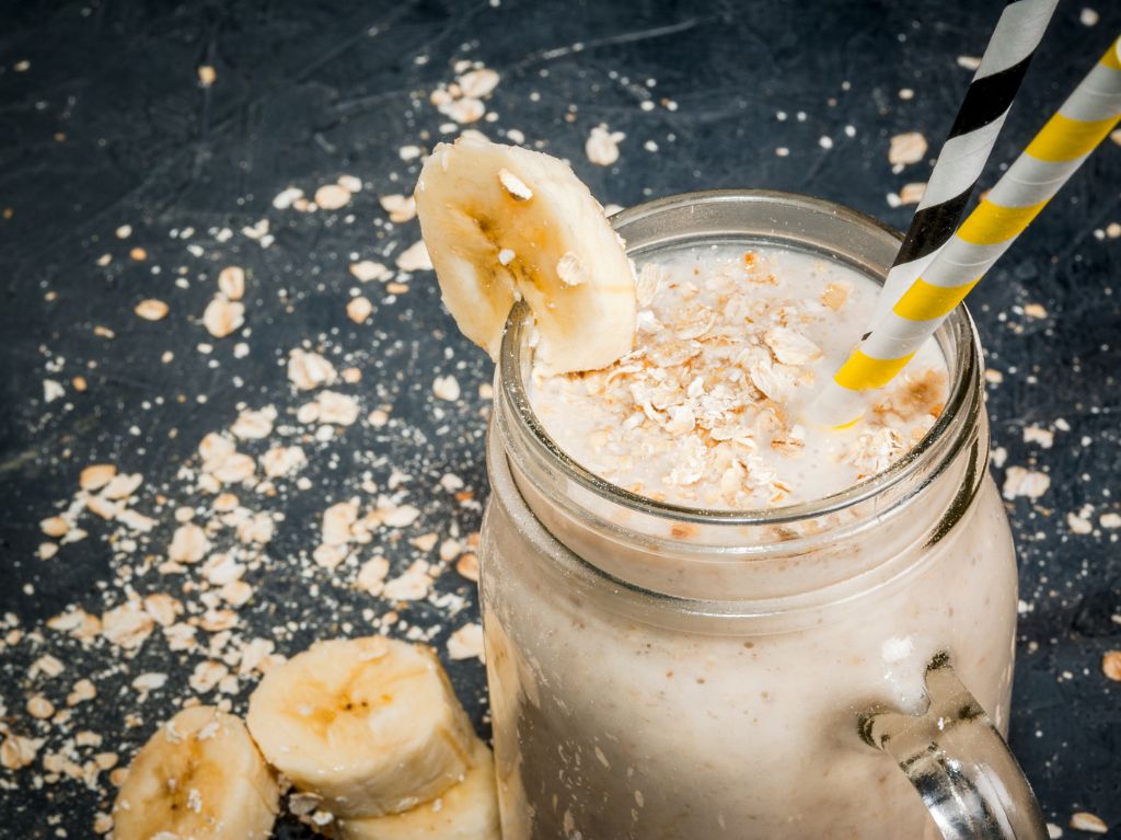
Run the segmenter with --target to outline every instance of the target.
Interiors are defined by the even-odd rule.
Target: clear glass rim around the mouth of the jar
[[[612,215],[610,221],[622,234],[628,225],[658,214],[683,207],[726,203],[782,204],[828,214],[837,221],[859,225],[865,231],[890,238],[896,243],[902,239],[893,228],[860,211],[824,199],[773,190],[707,190],[679,193],[622,210]],[[696,234],[691,237],[684,233],[680,239],[694,237]],[[871,279],[878,278],[871,277]],[[953,459],[958,449],[952,445],[957,418],[963,412],[969,412],[971,406],[973,412],[979,410],[976,406],[979,400],[972,397],[980,388],[980,343],[976,327],[963,303],[951,312],[935,333],[943,351],[952,350],[953,361],[956,362],[951,366],[951,387],[945,406],[923,439],[888,469],[828,496],[776,508],[721,510],[673,505],[640,496],[596,476],[577,463],[548,434],[532,410],[521,376],[521,349],[525,347],[526,327],[531,321],[528,306],[525,302],[519,302],[507,321],[498,366],[500,398],[521,427],[524,437],[549,461],[550,468],[557,470],[562,478],[612,505],[657,519],[729,526],[788,525],[845,510],[907,481],[924,469],[932,453],[942,453],[944,462]],[[947,444],[951,444],[948,451],[946,451]]]

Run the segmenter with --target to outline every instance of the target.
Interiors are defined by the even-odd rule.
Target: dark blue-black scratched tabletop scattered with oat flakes
[[[177,506],[204,510],[179,468],[191,463],[205,433],[229,427],[240,404],[274,405],[278,427],[298,426],[293,413],[309,396],[290,390],[282,362],[304,340],[340,369],[362,371],[361,382],[336,389],[359,398],[363,417],[388,405],[393,419],[380,430],[360,422],[327,442],[308,439],[307,489],[285,484],[276,496],[252,499],[254,510],[285,518],[267,561],[248,575],[256,593],[239,610],[238,633],[272,638],[290,654],[314,638],[371,631],[389,606],[352,587],[356,563],[371,551],[333,572],[307,562],[318,517],[335,501],[368,496],[363,478],[383,488],[395,468],[413,477],[409,500],[424,514],[407,536],[445,536],[453,523],[462,534],[478,528],[478,505],[456,504],[437,481],[453,472],[478,498],[485,495],[485,403],[478,387],[489,378],[489,361],[458,335],[429,273],[391,301],[380,284],[359,284],[346,271],[356,258],[391,265],[383,255],[417,239],[415,222],[374,227],[385,219],[376,199],[411,190],[418,161],[402,161],[398,149],[427,149],[439,137],[446,119],[427,98],[453,79],[455,61],[482,61],[502,76],[488,102],[498,120],[475,128],[493,138],[517,128],[528,141],[543,141],[545,150],[569,158],[604,202],[770,187],[821,195],[905,227],[908,209],[890,209],[884,196],[925,181],[928,166],[892,174],[888,140],[923,131],[933,156],[971,75],[955,59],[980,54],[1000,6],[8,4],[0,27],[0,607],[10,613],[0,700],[7,726],[47,739],[39,759],[59,748],[65,732],[87,729],[104,738],[99,750],[117,751],[124,763],[193,693],[187,676],[205,658],[198,652],[169,653],[156,634],[124,657],[103,641],[80,645],[44,621],[74,604],[100,615],[123,600],[122,584],[141,596],[183,585],[183,578],[168,583],[150,569],[122,570],[165,550]],[[1077,4],[1060,6],[982,184],[992,183],[995,164],[1026,142],[1121,27],[1121,9],[1100,6],[1093,27],[1080,22]],[[29,66],[19,71],[21,61]],[[203,64],[217,74],[206,89],[196,79]],[[902,87],[914,89],[914,99],[900,99]],[[641,110],[647,100],[655,107]],[[779,121],[778,111],[788,119]],[[601,122],[627,135],[610,168],[583,154],[590,129]],[[819,145],[823,136],[831,149]],[[658,150],[645,149],[647,140]],[[789,156],[777,156],[776,147],[789,148]],[[311,195],[342,174],[367,185],[344,210],[305,214],[271,205],[288,185]],[[1048,819],[1068,836],[1078,834],[1066,828],[1075,811],[1121,827],[1121,684],[1101,671],[1102,654],[1121,648],[1121,530],[1099,525],[1102,514],[1119,510],[1121,304],[1113,283],[1121,239],[1102,233],[1121,221],[1119,175],[1121,150],[1106,142],[971,297],[990,367],[1003,375],[990,391],[994,444],[1008,452],[1006,468],[1039,469],[1051,479],[1039,499],[1009,504],[1025,601],[1011,742]],[[261,219],[275,236],[268,248],[241,232]],[[133,232],[122,241],[114,230],[126,223]],[[195,230],[189,240],[169,236],[185,228]],[[220,241],[224,228],[233,236]],[[188,244],[201,250],[192,253]],[[145,248],[147,260],[130,260],[133,247]],[[103,253],[111,259],[99,266]],[[198,319],[214,275],[230,264],[249,274],[247,323],[241,333],[213,340]],[[176,285],[176,278],[186,281]],[[355,287],[377,306],[371,323],[345,317],[348,289]],[[168,317],[150,323],[133,315],[146,297],[166,301]],[[1046,316],[1026,315],[1029,303],[1041,304]],[[115,338],[95,334],[95,325]],[[244,358],[233,352],[239,341],[249,344]],[[200,352],[203,342],[213,351]],[[164,363],[167,350],[174,359]],[[444,373],[456,376],[463,397],[441,403],[441,416],[432,381]],[[85,393],[71,384],[78,375],[89,382]],[[45,379],[61,382],[65,395],[46,403]],[[1054,446],[1026,443],[1028,426],[1055,431]],[[294,440],[311,431],[278,434]],[[87,538],[49,561],[37,559],[38,521],[65,507],[82,467],[101,461],[143,474],[136,507],[156,528],[130,554],[109,542],[106,524],[86,515]],[[1002,481],[1004,470],[995,472]],[[1075,533],[1068,514],[1081,514],[1091,533]],[[416,552],[395,536],[377,535],[374,547],[396,574]],[[472,584],[451,571],[436,589],[474,597]],[[410,625],[438,626],[433,641],[442,650],[447,631],[474,613],[473,604],[453,616],[424,601],[401,611]],[[66,671],[30,677],[29,664],[44,653]],[[131,680],[157,670],[168,682],[139,698]],[[467,661],[451,670],[485,727],[482,667]],[[64,708],[78,677],[93,680],[99,698],[77,705],[68,723],[38,722],[25,712],[36,692]],[[241,681],[230,698],[235,709],[252,682]],[[80,753],[82,763],[91,750]],[[8,788],[0,794],[0,833],[91,836],[95,812],[111,803],[106,774],[91,787],[65,777],[44,781],[39,759],[18,773],[0,770]],[[304,831],[289,828],[281,833]]]

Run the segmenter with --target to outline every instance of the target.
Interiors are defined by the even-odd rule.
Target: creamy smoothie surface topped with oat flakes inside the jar
[[[587,373],[535,368],[530,401],[573,460],[658,501],[747,510],[823,498],[887,469],[945,403],[932,340],[852,427],[799,422],[878,292],[835,260],[780,248],[656,255],[639,273],[634,350]]]

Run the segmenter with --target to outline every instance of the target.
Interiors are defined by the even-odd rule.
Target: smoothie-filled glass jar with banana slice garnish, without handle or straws
[[[1007,727],[1016,564],[967,316],[822,430],[802,408],[898,248],[871,220],[675,196],[614,219],[624,251],[567,167],[478,140],[416,195],[499,362],[480,588],[506,840],[937,837],[863,721],[943,703],[945,665],[965,687],[936,729]]]

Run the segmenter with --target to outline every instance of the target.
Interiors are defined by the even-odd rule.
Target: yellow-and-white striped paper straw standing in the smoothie
[[[842,428],[860,419],[861,393],[882,388],[1000,259],[1121,119],[1121,38],[1036,135],[938,258],[864,336],[806,418]]]

